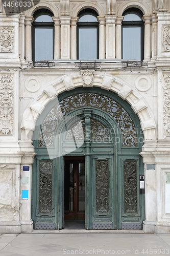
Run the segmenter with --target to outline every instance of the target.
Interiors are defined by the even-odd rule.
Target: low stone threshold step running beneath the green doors
[[[143,230],[94,230],[94,229],[61,229],[61,230],[33,230],[32,233],[145,233]]]

